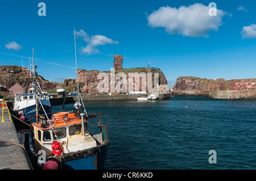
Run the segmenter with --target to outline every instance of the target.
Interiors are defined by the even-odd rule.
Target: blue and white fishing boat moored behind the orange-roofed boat
[[[34,56],[34,49],[33,49]],[[36,68],[34,64],[33,70],[30,71],[30,81],[28,81],[22,94],[16,94],[14,98],[13,111],[14,116],[22,121],[30,120],[30,116],[36,115],[36,96],[42,102],[44,110],[49,113],[52,111],[51,103],[47,92],[43,92],[38,81],[36,81]],[[42,107],[39,107],[39,113],[44,113]]]

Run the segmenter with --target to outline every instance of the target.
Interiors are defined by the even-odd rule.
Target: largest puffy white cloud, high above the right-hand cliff
[[[171,35],[209,37],[207,33],[210,30],[218,31],[218,27],[222,25],[222,16],[227,14],[217,9],[217,16],[210,16],[210,8],[201,3],[180,6],[179,9],[160,7],[147,16],[148,26],[166,28],[166,32]]]

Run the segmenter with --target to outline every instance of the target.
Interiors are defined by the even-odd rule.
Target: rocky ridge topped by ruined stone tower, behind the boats
[[[117,68],[122,68],[122,56],[114,56],[117,60]],[[10,73],[10,71],[13,71]],[[101,73],[101,71],[98,70],[84,70],[84,69],[78,69],[78,77],[79,77],[79,86],[80,90],[85,92],[86,94],[98,94],[98,83],[101,81],[98,79],[98,74]],[[127,78],[127,89],[129,85],[129,73],[152,73],[152,86],[154,86],[154,73],[159,73],[159,84],[160,85],[166,85],[167,79],[164,76],[163,72],[161,70],[154,70],[154,69],[146,69],[146,68],[137,68],[137,69],[121,69],[116,70],[115,75],[117,73],[125,73]],[[109,91],[110,91],[110,71],[104,71],[104,73],[108,74],[109,77]],[[12,79],[12,83],[10,83],[10,76]],[[64,87],[67,91],[76,91],[77,90],[77,80],[76,79],[65,79],[64,85],[63,83],[57,83],[57,82],[49,82],[45,80],[42,76],[37,75],[38,82],[42,89],[44,91],[47,90],[56,90],[61,89],[61,87]],[[30,81],[30,71],[28,70],[22,70],[21,66],[0,66],[0,84],[2,86],[6,86],[7,89],[10,88],[10,85],[14,85],[15,83],[19,83],[22,87],[26,87],[27,82]],[[118,79],[115,79],[115,86],[117,86]],[[134,80],[135,82],[135,80]],[[146,81],[147,83],[147,81]],[[122,85],[120,85],[122,88]],[[139,81],[139,90],[142,90],[142,81]],[[128,91],[128,90],[127,90]],[[116,91],[117,92],[117,91]]]

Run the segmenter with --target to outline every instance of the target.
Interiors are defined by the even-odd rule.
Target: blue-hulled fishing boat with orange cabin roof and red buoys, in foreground
[[[110,145],[108,131],[106,125],[101,124],[102,113],[88,115],[85,110],[79,90],[77,64],[76,74],[78,100],[74,104],[75,112],[55,112],[52,114],[52,118],[49,119],[44,107],[42,107],[44,115],[39,115],[37,111],[36,123],[31,124],[31,137],[25,140],[25,145],[28,146],[26,148],[30,151],[30,154],[36,158],[36,165],[40,169],[104,169],[106,154]],[[40,99],[37,98],[37,100],[42,105]],[[81,110],[82,106],[84,111]],[[97,124],[100,132],[90,134],[88,124],[93,117],[97,116],[100,117]]]

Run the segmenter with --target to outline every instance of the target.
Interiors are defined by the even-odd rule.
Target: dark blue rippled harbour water
[[[256,169],[256,100],[175,96],[85,102],[85,108],[88,115],[103,113],[108,128],[105,169]]]

